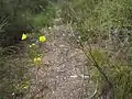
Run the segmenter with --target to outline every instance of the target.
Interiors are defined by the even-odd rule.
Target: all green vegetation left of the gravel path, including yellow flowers
[[[52,25],[54,8],[50,0],[0,0],[0,99],[29,92],[29,70],[41,64],[46,41],[40,30]]]

